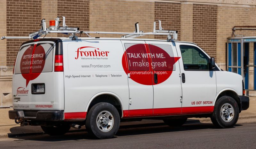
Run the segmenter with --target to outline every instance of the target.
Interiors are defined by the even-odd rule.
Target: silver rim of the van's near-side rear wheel
[[[101,111],[96,119],[97,127],[102,132],[108,132],[113,128],[114,117],[109,111]]]

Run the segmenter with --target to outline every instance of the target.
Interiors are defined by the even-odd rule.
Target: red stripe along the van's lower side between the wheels
[[[184,115],[184,114],[203,114],[203,113],[212,113],[213,109],[214,109],[214,106],[195,106],[195,107],[182,107],[182,108],[178,107],[178,108],[124,110],[123,118],[171,116],[171,115]],[[152,114],[151,112],[152,110],[154,111],[154,114]]]

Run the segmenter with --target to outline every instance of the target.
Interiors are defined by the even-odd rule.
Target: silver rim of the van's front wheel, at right
[[[235,115],[234,108],[229,103],[225,103],[221,106],[220,116],[223,121],[225,122],[232,121],[234,118],[234,115]]]

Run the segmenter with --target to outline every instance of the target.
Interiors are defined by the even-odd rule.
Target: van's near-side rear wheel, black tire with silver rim
[[[105,118],[108,118],[109,121],[106,125],[102,126],[100,125],[100,122],[99,122],[102,119],[98,119],[97,117],[101,114],[104,114],[104,111],[109,112],[110,114],[112,114],[113,117],[110,116],[110,119],[108,117],[105,117]],[[114,121],[112,121],[113,124],[110,126],[109,122],[112,120],[112,118],[114,118]],[[99,127],[97,124],[99,125]],[[108,138],[114,137],[119,129],[119,125],[120,125],[120,116],[118,111],[113,105],[106,102],[101,102],[92,106],[92,108],[89,110],[89,113],[87,114],[86,121],[85,121],[86,130],[93,137],[96,137],[99,139],[108,139]],[[108,130],[108,126],[109,126],[109,130]],[[103,132],[104,131],[103,128],[106,129],[107,132]]]

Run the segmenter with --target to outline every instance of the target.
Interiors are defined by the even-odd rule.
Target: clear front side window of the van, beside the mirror
[[[209,70],[209,58],[194,46],[180,45],[184,70]]]

